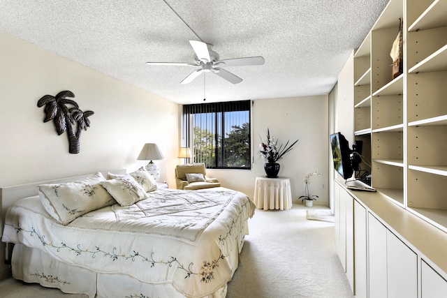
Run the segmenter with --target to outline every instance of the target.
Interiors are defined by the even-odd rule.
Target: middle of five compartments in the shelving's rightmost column
[[[407,118],[411,123],[447,115],[447,71],[407,75]]]

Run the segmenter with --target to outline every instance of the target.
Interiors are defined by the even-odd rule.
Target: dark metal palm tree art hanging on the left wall
[[[43,107],[45,105],[45,119],[43,119],[43,122],[53,120],[57,135],[67,131],[68,151],[71,154],[78,154],[80,151],[81,131],[87,131],[87,127],[90,126],[88,117],[94,114],[94,112],[82,112],[78,103],[68,97],[74,98],[75,94],[71,91],[61,91],[57,96],[45,95],[38,100],[37,106]]]

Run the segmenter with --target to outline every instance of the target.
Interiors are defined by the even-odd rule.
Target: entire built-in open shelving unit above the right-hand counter
[[[404,71],[393,79],[400,18]],[[372,186],[447,232],[447,0],[391,0],[354,54],[353,85]]]

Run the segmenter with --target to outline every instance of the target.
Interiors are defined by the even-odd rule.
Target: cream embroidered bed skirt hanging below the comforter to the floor
[[[239,263],[244,237],[248,234],[248,223],[238,235],[238,249],[226,256],[233,268]],[[89,269],[66,265],[50,257],[38,248],[15,244],[12,258],[13,277],[26,283],[39,283],[46,288],[58,288],[64,293],[85,294],[90,298],[109,297],[185,297],[173,285],[166,283],[142,283],[124,274],[105,274]],[[232,276],[233,276],[232,274]],[[225,298],[227,285],[205,298]]]

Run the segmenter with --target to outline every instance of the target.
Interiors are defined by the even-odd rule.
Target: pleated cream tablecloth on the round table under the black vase
[[[291,209],[291,181],[286,177],[256,177],[254,203],[258,209]]]

